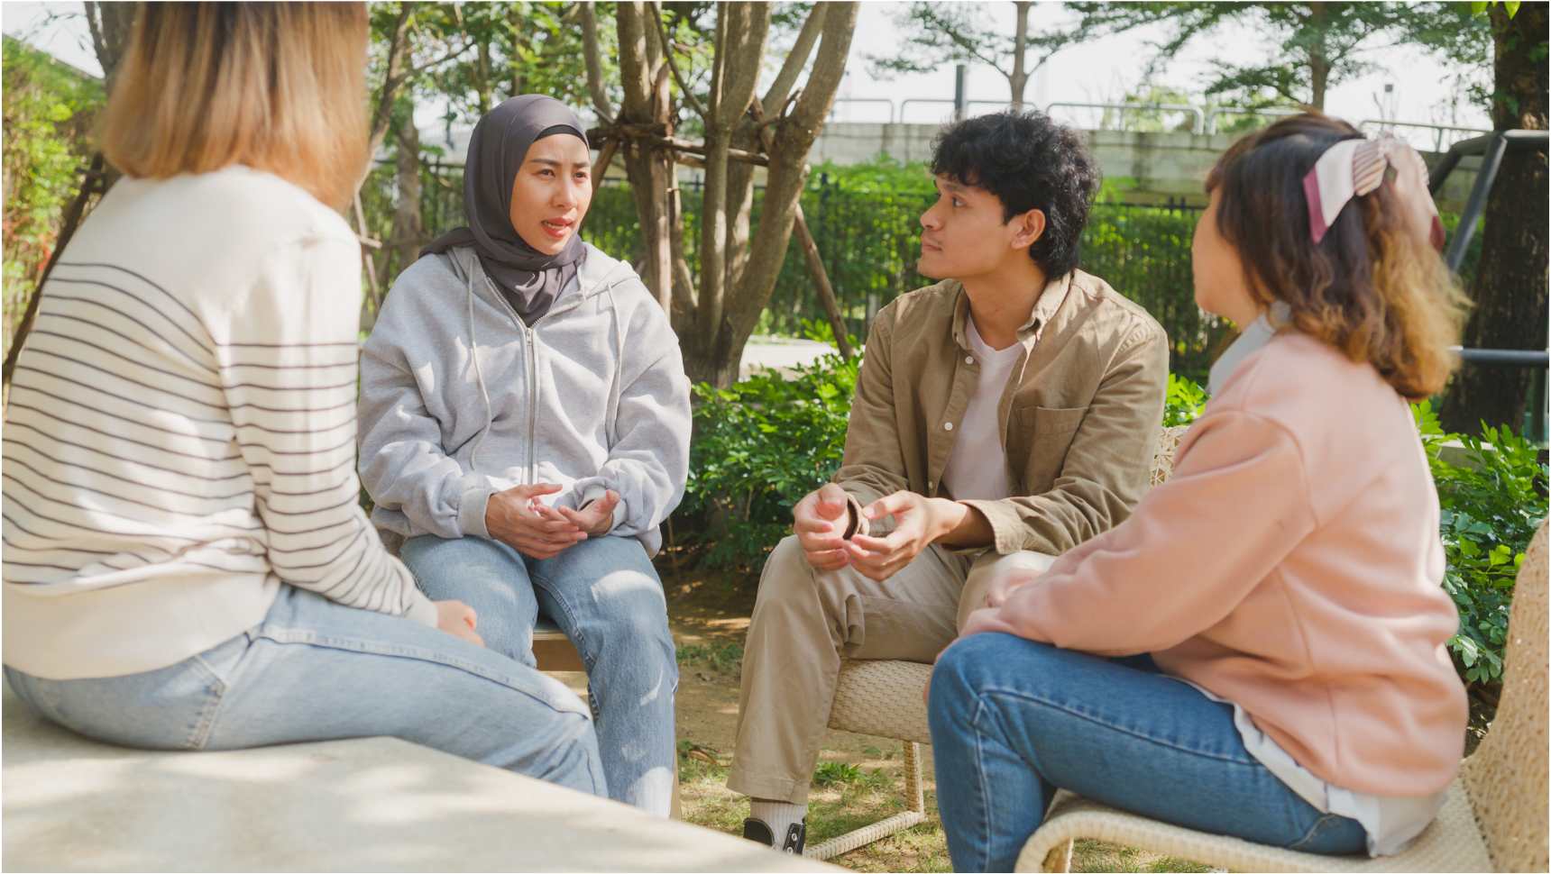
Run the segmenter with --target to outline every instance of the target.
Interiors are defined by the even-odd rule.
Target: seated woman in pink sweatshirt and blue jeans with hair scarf
[[[1408,146],[1321,115],[1207,180],[1196,301],[1241,325],[1173,477],[993,587],[932,674],[959,871],[1010,871],[1058,787],[1307,852],[1391,854],[1464,742],[1438,494],[1408,400],[1463,298]]]

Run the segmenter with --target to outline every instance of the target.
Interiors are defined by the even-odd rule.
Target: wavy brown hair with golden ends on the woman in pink
[[[1318,245],[1309,239],[1303,177],[1326,149],[1360,138],[1321,113],[1284,118],[1224,152],[1207,192],[1222,194],[1218,231],[1259,302],[1286,302],[1300,332],[1421,400],[1442,391],[1458,366],[1449,347],[1469,302],[1432,245],[1407,228],[1394,180],[1352,198]]]

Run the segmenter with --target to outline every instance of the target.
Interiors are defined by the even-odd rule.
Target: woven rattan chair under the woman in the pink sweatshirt
[[[1095,838],[1230,871],[1546,871],[1546,525],[1518,569],[1497,719],[1449,787],[1438,820],[1399,855],[1311,855],[1056,795],[1016,871],[1069,871]]]

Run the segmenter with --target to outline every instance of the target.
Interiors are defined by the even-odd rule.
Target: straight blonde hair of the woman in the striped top
[[[363,3],[141,3],[98,127],[130,177],[231,164],[333,208],[366,170]]]

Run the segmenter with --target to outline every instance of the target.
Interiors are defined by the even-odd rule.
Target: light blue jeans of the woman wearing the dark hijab
[[[534,665],[538,614],[575,643],[588,673],[610,797],[667,817],[673,803],[678,657],[667,598],[633,538],[589,538],[549,559],[482,538],[411,538],[400,558],[433,600],[478,615],[485,646]]]

